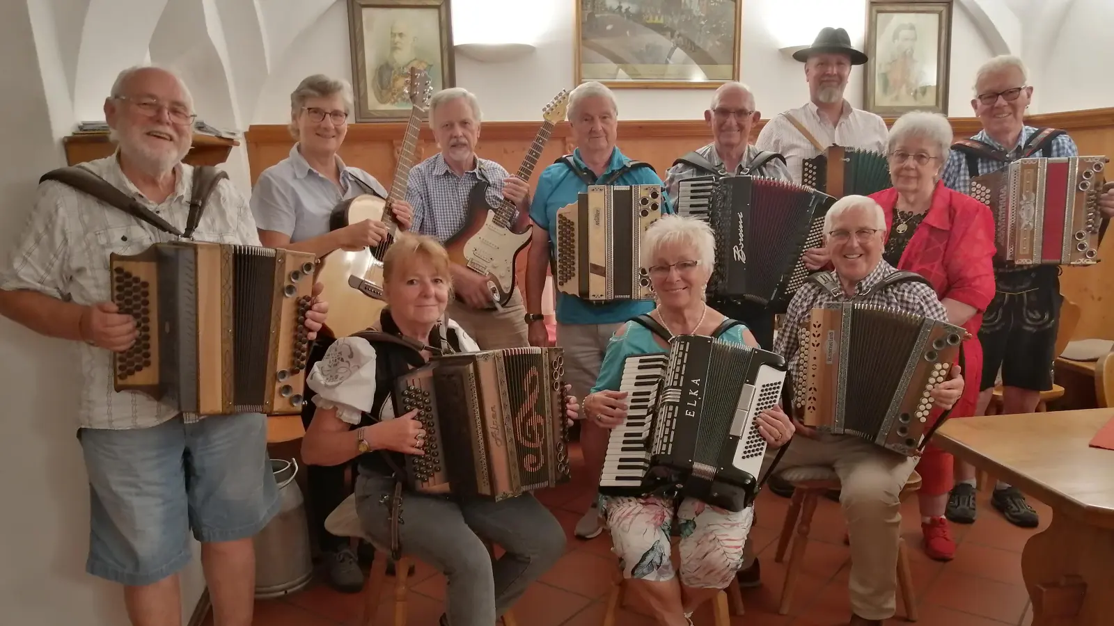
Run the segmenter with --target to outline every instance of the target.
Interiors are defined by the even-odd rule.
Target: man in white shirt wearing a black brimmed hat
[[[783,155],[798,185],[801,184],[801,162],[815,157],[833,144],[885,153],[889,131],[882,118],[856,109],[843,99],[851,67],[867,62],[867,55],[851,47],[847,31],[824,28],[811,47],[798,50],[793,58],[804,63],[810,101],[771,118],[754,146]]]

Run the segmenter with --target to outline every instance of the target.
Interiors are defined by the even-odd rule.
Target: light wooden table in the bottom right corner
[[[1033,626],[1114,624],[1114,450],[1087,443],[1114,409],[945,422],[932,441],[1048,505],[1022,552]]]

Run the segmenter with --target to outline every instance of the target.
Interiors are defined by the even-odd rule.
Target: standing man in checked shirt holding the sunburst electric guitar
[[[489,206],[499,206],[506,197],[515,203],[519,215],[529,212],[529,185],[498,163],[476,155],[480,138],[476,96],[461,87],[438,91],[429,102],[429,127],[441,151],[410,169],[407,202],[413,207],[411,231],[444,244],[465,226],[468,196],[480,180],[489,185],[485,193]],[[502,310],[496,310],[485,275],[463,265],[451,264],[449,268],[459,300],[449,302],[448,315],[468,336],[482,350],[529,345],[526,306],[517,285]]]

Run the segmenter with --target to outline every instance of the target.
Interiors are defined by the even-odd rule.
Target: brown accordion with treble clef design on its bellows
[[[569,479],[560,348],[436,356],[395,382],[395,414],[414,409],[424,454],[411,489],[502,500]]]

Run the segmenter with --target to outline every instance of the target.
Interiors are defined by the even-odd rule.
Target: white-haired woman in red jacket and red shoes
[[[978,330],[994,297],[994,216],[985,204],[939,182],[951,146],[946,117],[927,111],[901,116],[890,129],[887,154],[893,187],[870,196],[886,213],[882,257],[898,270],[927,278],[948,311],[948,321],[967,329],[962,398],[950,418],[975,414],[983,348]],[[925,551],[937,560],[956,552],[944,509],[951,489],[952,459],[929,443],[917,471]]]

